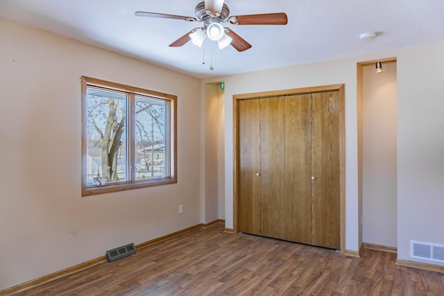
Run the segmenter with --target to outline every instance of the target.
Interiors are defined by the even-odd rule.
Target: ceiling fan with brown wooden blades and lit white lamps
[[[285,13],[264,13],[258,15],[230,15],[230,9],[223,3],[224,0],[205,0],[197,4],[194,9],[196,17],[184,17],[182,15],[166,15],[163,13],[147,13],[137,11],[137,17],[159,17],[163,19],[182,19],[187,22],[203,22],[203,26],[194,28],[178,40],[169,44],[170,47],[181,47],[191,40],[201,47],[206,37],[217,41],[219,48],[223,49],[231,44],[237,51],[245,51],[251,48],[241,36],[234,33],[231,28],[222,24],[233,25],[285,25],[287,15]]]

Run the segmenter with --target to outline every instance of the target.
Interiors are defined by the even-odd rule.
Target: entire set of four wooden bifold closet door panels
[[[239,231],[339,249],[339,91],[237,104]]]

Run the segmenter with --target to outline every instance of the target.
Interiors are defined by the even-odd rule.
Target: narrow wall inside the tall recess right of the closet
[[[362,67],[363,239],[396,247],[396,62]]]

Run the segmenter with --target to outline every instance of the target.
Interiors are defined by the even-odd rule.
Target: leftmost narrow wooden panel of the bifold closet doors
[[[260,100],[239,101],[239,231],[261,235]]]

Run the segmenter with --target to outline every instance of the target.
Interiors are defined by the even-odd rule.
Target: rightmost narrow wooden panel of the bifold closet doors
[[[311,244],[339,249],[339,92],[312,94]]]

